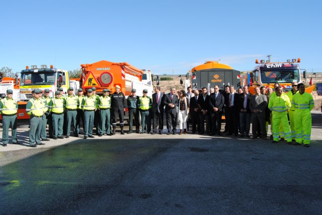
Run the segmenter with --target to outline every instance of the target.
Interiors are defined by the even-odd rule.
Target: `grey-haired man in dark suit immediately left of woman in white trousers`
[[[178,96],[176,95],[176,88],[170,87],[170,93],[163,96],[163,105],[166,106],[166,116],[167,116],[167,129],[168,135],[176,134],[177,127],[177,106],[178,106]]]

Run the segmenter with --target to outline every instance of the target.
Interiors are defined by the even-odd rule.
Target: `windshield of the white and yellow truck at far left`
[[[53,84],[55,81],[55,73],[53,72],[26,72],[21,75],[21,85],[42,85]]]

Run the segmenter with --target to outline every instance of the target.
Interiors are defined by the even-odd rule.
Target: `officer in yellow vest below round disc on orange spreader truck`
[[[100,109],[100,126],[99,126],[99,137],[107,134],[111,135],[110,125],[110,108],[111,108],[111,97],[108,96],[109,89],[103,89],[103,95],[100,96],[99,109]]]

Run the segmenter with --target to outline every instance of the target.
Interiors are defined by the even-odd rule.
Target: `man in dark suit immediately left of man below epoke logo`
[[[198,97],[198,107],[200,110],[200,132],[199,134],[205,133],[206,121],[206,133],[209,133],[209,120],[210,120],[210,96],[207,94],[207,87],[202,87],[202,94]]]

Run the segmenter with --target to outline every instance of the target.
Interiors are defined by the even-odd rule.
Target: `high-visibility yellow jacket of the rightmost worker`
[[[314,107],[313,97],[307,92],[304,92],[303,94],[296,93],[293,95],[292,106],[294,106],[295,111],[310,112]]]

